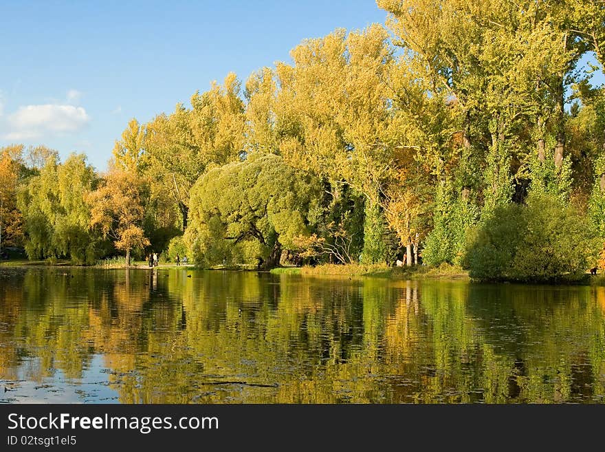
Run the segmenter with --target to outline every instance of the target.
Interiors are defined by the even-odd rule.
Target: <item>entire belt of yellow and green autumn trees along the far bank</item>
[[[203,266],[399,259],[479,279],[595,265],[605,88],[579,62],[603,69],[605,1],[377,3],[386,26],[305,40],[289,63],[131,120],[106,174],[3,149],[0,247],[88,263],[183,236]],[[571,216],[540,219],[549,203]]]

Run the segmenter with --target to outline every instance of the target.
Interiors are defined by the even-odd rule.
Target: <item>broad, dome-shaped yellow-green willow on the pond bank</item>
[[[278,155],[254,153],[216,167],[191,191],[186,241],[206,265],[248,257],[278,266],[282,250],[296,249],[296,238],[308,235],[319,191],[314,177]]]

